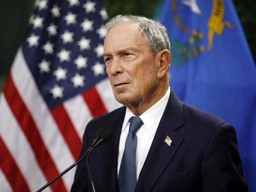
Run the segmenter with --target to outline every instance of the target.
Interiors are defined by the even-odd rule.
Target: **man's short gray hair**
[[[170,41],[167,30],[160,22],[143,16],[117,15],[106,23],[105,27],[107,32],[109,32],[114,26],[125,22],[138,23],[138,28],[141,30],[143,37],[147,40],[154,55],[165,49],[170,52]]]

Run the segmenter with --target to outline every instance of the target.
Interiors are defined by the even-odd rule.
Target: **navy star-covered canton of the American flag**
[[[106,78],[99,1],[36,1],[23,44],[25,60],[50,109]]]

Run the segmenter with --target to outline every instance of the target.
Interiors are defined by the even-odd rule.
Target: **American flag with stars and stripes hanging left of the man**
[[[68,168],[86,124],[119,107],[102,58],[99,0],[37,0],[0,98],[0,191],[36,191]],[[75,169],[45,191],[69,191]]]

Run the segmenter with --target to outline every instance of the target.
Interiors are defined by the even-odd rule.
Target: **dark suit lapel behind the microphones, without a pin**
[[[104,145],[102,148],[102,167],[103,167],[103,174],[106,175],[108,183],[106,186],[106,191],[117,192],[117,160],[118,160],[118,147],[119,147],[119,140],[120,134],[122,130],[122,125],[124,122],[126,108],[122,107],[116,115],[114,115],[113,120],[108,127],[114,132],[114,136]],[[106,158],[108,157],[108,158]]]

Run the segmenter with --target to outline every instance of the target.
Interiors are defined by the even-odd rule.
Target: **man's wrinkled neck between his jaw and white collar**
[[[146,96],[145,99],[126,103],[124,106],[126,106],[135,116],[140,116],[166,94],[168,87],[168,81],[160,83],[158,84],[158,87],[152,93],[150,93],[150,95]]]

